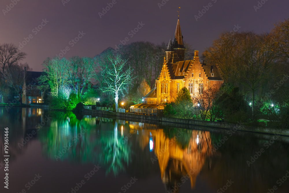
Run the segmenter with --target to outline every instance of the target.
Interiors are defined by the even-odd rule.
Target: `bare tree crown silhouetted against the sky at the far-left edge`
[[[0,67],[2,68],[0,73],[3,75],[5,67],[9,68],[12,64],[23,60],[26,55],[26,53],[20,52],[19,48],[12,43],[0,44]]]

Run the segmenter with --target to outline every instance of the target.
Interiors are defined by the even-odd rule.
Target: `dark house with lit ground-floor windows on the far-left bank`
[[[26,71],[26,68],[24,69]],[[43,103],[43,92],[39,89],[40,84],[37,78],[44,72],[26,71],[23,85],[22,103],[37,104]]]

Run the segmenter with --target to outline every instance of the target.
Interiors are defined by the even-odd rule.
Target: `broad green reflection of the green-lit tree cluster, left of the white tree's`
[[[98,141],[90,137],[93,133],[91,123],[85,119],[78,120],[72,112],[54,113],[50,128],[39,130],[44,154],[54,161],[97,163],[95,150]]]

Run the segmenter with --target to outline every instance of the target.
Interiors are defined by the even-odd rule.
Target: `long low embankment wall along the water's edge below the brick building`
[[[160,124],[163,126],[174,126],[180,128],[188,128],[194,126],[201,126],[206,128],[224,129],[224,130],[238,130],[250,133],[260,133],[269,135],[280,135],[289,137],[289,130],[282,128],[266,128],[266,127],[253,127],[244,124],[234,124],[227,122],[211,122],[192,119],[181,119],[164,116],[149,116],[149,115],[136,115],[134,113],[118,113],[111,111],[99,111],[91,109],[82,109],[82,113],[89,113],[91,115],[101,115],[105,117],[122,117],[125,120],[137,121],[137,122],[149,122],[151,124]],[[173,124],[173,125],[172,125]]]

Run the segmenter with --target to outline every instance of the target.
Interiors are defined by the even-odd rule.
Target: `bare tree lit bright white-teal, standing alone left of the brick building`
[[[100,89],[114,94],[115,108],[118,109],[118,95],[124,95],[132,86],[134,69],[126,66],[127,60],[121,59],[120,55],[107,55],[107,58],[105,63],[98,61],[97,68],[104,83]]]

